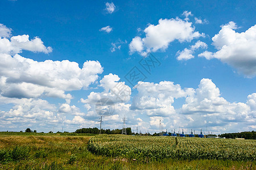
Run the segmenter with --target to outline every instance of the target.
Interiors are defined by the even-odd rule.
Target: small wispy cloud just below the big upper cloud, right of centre
[[[177,52],[176,55],[177,56],[177,60],[188,60],[188,59],[191,59],[191,58],[194,58],[195,56],[193,56],[193,53],[195,52],[196,49],[199,49],[199,48],[207,48],[207,44],[205,44],[204,42],[202,41],[197,41],[195,45],[192,45],[190,49],[187,49],[185,48],[183,51],[179,51]]]

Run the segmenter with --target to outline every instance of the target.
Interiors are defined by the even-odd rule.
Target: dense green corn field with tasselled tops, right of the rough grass
[[[255,161],[254,140],[97,135],[88,150],[98,155],[121,156],[136,160],[216,159]]]

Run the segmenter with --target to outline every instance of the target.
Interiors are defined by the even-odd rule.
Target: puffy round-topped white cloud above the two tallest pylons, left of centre
[[[125,85],[125,82],[118,82],[118,75],[105,75],[100,80],[100,87],[103,92],[90,92],[87,99],[81,99],[89,110],[87,116],[97,116],[97,114],[110,116],[115,113],[129,111],[130,104],[125,102],[130,100],[131,88]],[[97,114],[96,114],[97,113]]]

